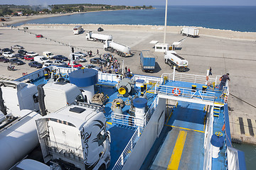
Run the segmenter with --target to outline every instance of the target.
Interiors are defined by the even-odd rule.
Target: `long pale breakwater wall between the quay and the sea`
[[[121,24],[79,24],[84,30],[95,30],[102,27],[104,30],[123,30],[123,31],[142,31],[142,32],[164,32],[164,26],[151,26],[151,25],[121,25]],[[72,30],[77,24],[24,24],[17,28],[23,29],[23,26],[32,30],[44,29],[58,29],[58,30]],[[166,26],[167,33],[180,33],[181,28],[184,26]],[[220,30],[213,28],[194,27],[199,29],[200,35],[206,35],[215,38],[225,38],[229,40],[249,40],[256,41],[256,32],[240,32],[234,30]]]

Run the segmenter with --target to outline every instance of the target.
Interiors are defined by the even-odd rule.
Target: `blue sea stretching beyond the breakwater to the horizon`
[[[164,26],[165,6],[148,10],[101,11],[41,18],[26,23],[100,23]],[[201,26],[256,32],[256,6],[169,6],[168,26]],[[20,26],[23,23],[18,23]]]

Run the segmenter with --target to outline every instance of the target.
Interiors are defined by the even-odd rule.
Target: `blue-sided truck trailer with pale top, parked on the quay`
[[[140,64],[142,72],[154,72],[156,56],[149,50],[142,50],[140,53]]]

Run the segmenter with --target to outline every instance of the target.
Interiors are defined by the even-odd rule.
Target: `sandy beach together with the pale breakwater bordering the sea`
[[[120,11],[120,10],[130,10],[130,9],[119,9],[119,10],[102,10],[102,11]],[[75,14],[82,14],[82,13],[92,13],[92,12],[102,12],[102,11],[87,11],[87,12],[73,12],[73,13],[55,13],[55,14],[41,14],[36,16],[13,16],[11,17],[11,21],[1,21],[0,22],[0,28],[10,28],[7,26],[11,26],[15,23],[24,23],[26,21],[41,19],[41,18],[50,18],[50,17],[58,17],[58,16],[69,16],[69,15],[75,15]],[[2,23],[8,24],[7,26],[2,26]],[[58,23],[50,23],[50,24],[37,24],[37,23],[25,23],[21,26],[17,26],[16,28],[23,28],[23,26],[28,26],[31,29],[72,29],[70,27],[73,27],[78,24],[58,24]],[[136,31],[156,31],[156,32],[162,32],[164,31],[164,26],[155,26],[155,25],[129,25],[129,24],[79,24],[84,29],[97,29],[99,26],[104,26],[105,29],[109,30],[136,30]],[[181,28],[185,26],[166,26],[166,32],[169,33],[179,33]],[[216,28],[203,28],[203,27],[197,27],[193,26],[193,28],[199,29],[199,36],[200,35],[206,35],[211,37],[217,37],[217,38],[225,38],[230,40],[251,40],[256,41],[256,32],[242,32],[242,31],[235,31],[235,30],[221,30]]]

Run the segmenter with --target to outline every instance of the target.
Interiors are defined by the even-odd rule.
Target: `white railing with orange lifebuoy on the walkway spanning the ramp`
[[[165,86],[156,84],[155,94],[161,94],[166,96],[176,96],[180,98],[196,98],[202,101],[215,101],[215,93],[210,91],[198,91],[194,89],[186,89],[176,86]]]

